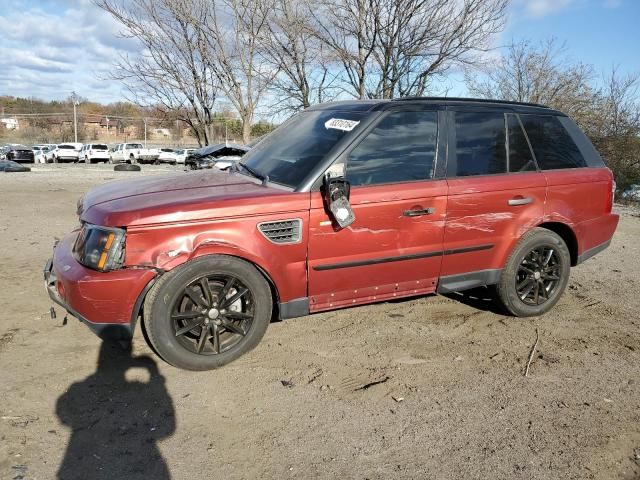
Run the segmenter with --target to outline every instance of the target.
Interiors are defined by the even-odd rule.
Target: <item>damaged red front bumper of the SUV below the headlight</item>
[[[86,268],[72,255],[76,235],[73,232],[62,239],[45,266],[49,297],[101,338],[130,338],[146,287],[156,272]]]

